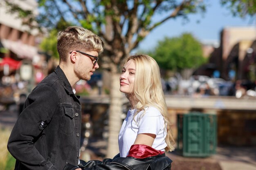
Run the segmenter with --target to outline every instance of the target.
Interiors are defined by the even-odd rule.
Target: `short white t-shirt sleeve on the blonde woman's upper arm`
[[[164,117],[157,108],[146,108],[146,113],[138,121],[140,133],[151,133],[157,135],[164,126]]]

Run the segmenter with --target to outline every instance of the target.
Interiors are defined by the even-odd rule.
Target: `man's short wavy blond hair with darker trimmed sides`
[[[104,43],[101,38],[81,26],[69,26],[58,32],[57,50],[60,62],[67,61],[67,54],[75,50],[103,52]]]

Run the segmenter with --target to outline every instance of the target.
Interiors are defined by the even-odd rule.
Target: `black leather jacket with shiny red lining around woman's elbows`
[[[130,155],[130,156],[129,156]],[[146,145],[132,145],[128,157],[114,157],[103,161],[80,161],[82,170],[171,170],[172,160],[165,153]],[[132,156],[134,155],[134,156]],[[67,163],[64,170],[77,166]]]

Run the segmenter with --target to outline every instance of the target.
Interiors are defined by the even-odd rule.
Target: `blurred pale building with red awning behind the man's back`
[[[37,13],[36,0],[11,2]],[[0,1],[0,98],[5,99],[13,98],[13,93],[19,90],[29,92],[40,82],[47,75],[49,58],[38,53],[39,31],[23,25],[24,20],[16,13],[9,13],[8,9],[5,2]]]

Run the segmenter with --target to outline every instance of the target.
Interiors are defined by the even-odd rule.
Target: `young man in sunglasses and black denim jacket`
[[[15,170],[63,170],[78,165],[81,104],[74,86],[90,80],[103,51],[99,36],[71,26],[58,33],[59,66],[29,94],[7,148]]]

